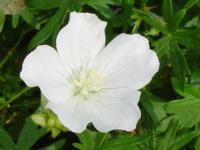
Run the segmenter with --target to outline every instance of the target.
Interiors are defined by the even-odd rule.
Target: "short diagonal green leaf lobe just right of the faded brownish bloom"
[[[25,22],[33,26],[35,29],[39,30],[40,29],[40,24],[38,23],[37,19],[35,16],[32,14],[30,9],[26,7],[21,13],[21,17],[24,19]]]

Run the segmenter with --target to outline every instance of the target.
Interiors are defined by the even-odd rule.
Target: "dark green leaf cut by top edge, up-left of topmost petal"
[[[28,0],[27,5],[39,10],[49,10],[60,7],[62,2],[63,0]]]

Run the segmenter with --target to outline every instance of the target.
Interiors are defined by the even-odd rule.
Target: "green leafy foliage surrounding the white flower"
[[[0,0],[0,6],[9,1],[18,4]],[[0,7],[0,150],[200,150],[199,0],[27,0],[14,8],[8,14]],[[39,44],[55,47],[71,11],[107,21],[107,42],[122,32],[140,33],[157,52],[160,70],[142,89],[134,132],[89,127],[52,138],[30,120],[40,93],[20,80],[22,61]]]

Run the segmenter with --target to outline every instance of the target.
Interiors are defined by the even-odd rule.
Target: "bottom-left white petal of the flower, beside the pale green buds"
[[[49,103],[47,105],[60,122],[73,132],[80,133],[86,129],[91,121],[92,107],[87,101],[69,97],[65,103]]]

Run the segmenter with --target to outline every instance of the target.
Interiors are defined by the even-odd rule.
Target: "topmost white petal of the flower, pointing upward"
[[[68,25],[58,34],[57,49],[65,64],[73,71],[89,67],[105,46],[106,22],[94,14],[70,14]]]

